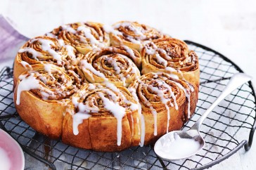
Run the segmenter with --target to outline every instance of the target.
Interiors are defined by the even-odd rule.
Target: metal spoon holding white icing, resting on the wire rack
[[[250,81],[250,79],[252,79],[252,77],[248,76],[247,74],[234,74],[219,97],[214,103],[212,103],[212,105],[210,105],[210,107],[191,127],[191,129],[188,131],[171,131],[158,139],[154,147],[155,154],[158,155],[158,157],[168,161],[184,159],[196,155],[196,153],[202,150],[203,146],[205,145],[205,140],[202,136],[200,136],[199,129],[207,115],[209,115],[215,106],[217,106],[226,96],[228,96],[229,93],[237,89],[239,86],[245,84],[247,81]],[[174,140],[177,140],[177,142],[174,143]],[[191,140],[191,142],[189,140]],[[184,142],[186,144],[184,144]],[[189,148],[190,146],[191,148]],[[168,150],[168,148],[170,150]],[[189,150],[189,152],[187,150]],[[175,153],[175,151],[177,153]]]

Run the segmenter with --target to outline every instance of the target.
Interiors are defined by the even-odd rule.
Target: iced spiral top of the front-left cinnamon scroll
[[[75,71],[74,71],[75,70]],[[29,74],[20,75],[20,86],[18,86],[18,102],[20,93],[23,91],[23,83],[32,81],[36,86],[30,92],[41,98],[41,100],[62,100],[69,98],[84,82],[84,75],[77,69],[63,71],[54,65],[37,65],[37,70]],[[29,88],[29,87],[28,87]]]

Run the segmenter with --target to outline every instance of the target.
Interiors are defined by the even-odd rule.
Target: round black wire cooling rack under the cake
[[[230,77],[242,70],[224,55],[186,41],[200,63],[200,93],[196,112],[184,129],[191,127],[219,96]],[[197,155],[174,162],[158,158],[153,147],[133,147],[122,152],[81,150],[51,140],[34,131],[18,116],[13,105],[13,70],[0,72],[0,126],[30,156],[47,169],[205,169],[222,162],[241,148],[250,149],[255,131],[255,91],[251,82],[233,91],[207,117],[201,133],[206,145]]]

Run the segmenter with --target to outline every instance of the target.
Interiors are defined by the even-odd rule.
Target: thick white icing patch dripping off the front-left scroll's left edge
[[[30,91],[32,89],[41,88],[41,85],[39,84],[39,80],[34,77],[34,73],[31,73],[29,77],[27,77],[27,74],[20,75],[19,79],[20,79],[20,83],[18,84],[17,98],[16,98],[17,105],[20,105],[20,93],[22,91]]]

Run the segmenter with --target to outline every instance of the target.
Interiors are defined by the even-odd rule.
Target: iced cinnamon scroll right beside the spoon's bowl
[[[168,131],[181,129],[195,111],[198,100],[197,86],[175,74],[144,74],[128,89],[141,105],[144,144],[155,142]]]

